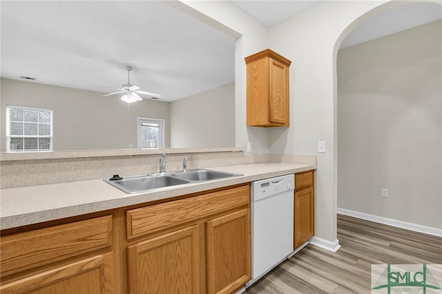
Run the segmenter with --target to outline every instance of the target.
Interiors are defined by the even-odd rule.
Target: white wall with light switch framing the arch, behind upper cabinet
[[[291,59],[291,127],[271,133],[271,153],[317,155],[316,237],[337,244],[336,52],[358,23],[398,3],[325,1],[270,32],[271,48]],[[318,141],[326,153],[317,153]]]

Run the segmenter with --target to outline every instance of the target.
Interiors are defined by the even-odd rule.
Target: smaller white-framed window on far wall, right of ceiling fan
[[[138,148],[163,148],[164,119],[137,117]]]

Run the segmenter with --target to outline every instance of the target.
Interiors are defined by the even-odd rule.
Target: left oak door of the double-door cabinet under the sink
[[[200,293],[200,227],[128,247],[130,293]]]

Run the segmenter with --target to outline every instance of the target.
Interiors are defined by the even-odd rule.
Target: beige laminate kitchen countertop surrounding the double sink
[[[3,230],[37,224],[53,219],[142,204],[269,177],[300,173],[305,170],[316,169],[316,166],[261,163],[220,166],[209,169],[240,173],[242,176],[209,182],[192,182],[137,194],[126,194],[102,179],[1,189],[0,228]]]

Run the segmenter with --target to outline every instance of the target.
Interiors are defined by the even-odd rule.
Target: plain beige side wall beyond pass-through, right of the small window
[[[171,102],[171,148],[235,146],[235,83]]]

